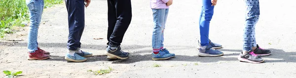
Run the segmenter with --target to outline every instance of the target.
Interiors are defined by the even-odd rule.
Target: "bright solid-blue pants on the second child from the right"
[[[209,45],[209,27],[214,14],[214,6],[211,0],[202,0],[201,13],[199,18],[200,43],[201,46]]]

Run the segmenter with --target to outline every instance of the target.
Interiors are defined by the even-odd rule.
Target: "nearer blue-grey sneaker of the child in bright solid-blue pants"
[[[222,56],[224,53],[212,48],[211,45],[208,45],[206,49],[199,48],[199,56]]]

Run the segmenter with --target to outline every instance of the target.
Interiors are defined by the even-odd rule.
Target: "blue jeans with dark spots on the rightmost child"
[[[246,2],[246,24],[244,29],[243,51],[250,51],[256,47],[255,26],[259,20],[259,0],[245,0]]]

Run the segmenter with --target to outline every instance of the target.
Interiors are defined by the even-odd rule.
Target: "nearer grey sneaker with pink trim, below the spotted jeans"
[[[243,62],[249,62],[249,63],[264,62],[263,58],[258,57],[252,50],[250,50],[246,54],[243,54],[243,52],[241,52],[239,54],[238,60],[243,61]]]

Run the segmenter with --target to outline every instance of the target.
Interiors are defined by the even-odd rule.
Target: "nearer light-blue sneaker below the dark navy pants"
[[[86,58],[78,55],[77,53],[74,53],[74,56],[69,55],[68,53],[65,56],[65,59],[68,61],[73,61],[73,62],[83,62],[86,61]]]

